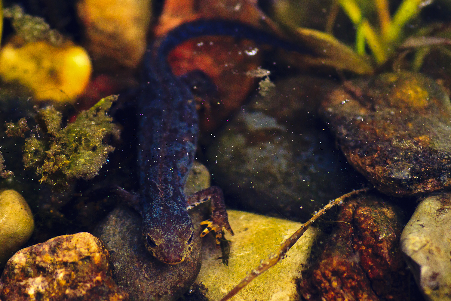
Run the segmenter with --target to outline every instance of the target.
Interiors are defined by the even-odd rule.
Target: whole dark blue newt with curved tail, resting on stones
[[[140,193],[129,203],[143,218],[147,250],[166,264],[178,264],[190,254],[194,233],[188,209],[197,204],[212,203],[211,218],[201,222],[207,225],[201,237],[214,231],[219,245],[223,230],[233,235],[221,188],[212,186],[191,196],[183,193],[197,148],[198,114],[191,90],[172,73],[167,55],[181,42],[207,35],[249,38],[299,51],[299,46],[260,29],[225,20],[184,23],[148,47],[138,99]]]

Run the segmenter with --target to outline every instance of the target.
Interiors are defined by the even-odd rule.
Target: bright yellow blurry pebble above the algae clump
[[[74,102],[86,88],[91,60],[80,46],[55,47],[46,42],[6,44],[0,51],[0,76],[30,88],[37,101]]]

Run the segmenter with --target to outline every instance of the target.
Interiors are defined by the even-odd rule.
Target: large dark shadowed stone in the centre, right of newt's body
[[[208,150],[215,181],[240,208],[308,219],[324,202],[358,188],[358,176],[314,116],[318,79],[276,82],[240,111]],[[312,116],[313,115],[313,116]]]

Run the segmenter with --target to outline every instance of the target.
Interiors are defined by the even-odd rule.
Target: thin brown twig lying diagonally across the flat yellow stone
[[[312,218],[310,218],[304,225],[302,225],[298,231],[293,233],[286,241],[282,243],[282,245],[277,249],[276,253],[269,255],[269,257],[265,260],[262,260],[260,265],[253,269],[239,284],[234,287],[221,301],[229,300],[231,297],[235,296],[237,292],[239,292],[243,287],[248,285],[253,279],[255,279],[258,275],[265,272],[267,269],[271,268],[273,265],[277,264],[281,259],[285,257],[286,252],[290,250],[290,248],[299,240],[299,238],[304,234],[304,232],[310,227],[310,225],[316,221],[323,213],[326,212],[327,209],[331,208],[334,205],[341,205],[343,200],[347,197],[353,196],[355,194],[359,194],[361,192],[368,191],[369,188],[362,188],[359,190],[354,190],[350,193],[344,194],[338,199],[331,200],[329,204],[324,206],[318,212],[315,212]]]

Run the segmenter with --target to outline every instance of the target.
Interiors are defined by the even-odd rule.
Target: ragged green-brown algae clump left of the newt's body
[[[119,139],[120,130],[106,114],[117,95],[102,98],[73,123],[61,127],[61,113],[53,106],[37,110],[37,136],[25,140],[23,163],[42,175],[39,182],[54,190],[64,189],[75,179],[97,176],[106,157],[115,148],[103,143],[107,135]]]

